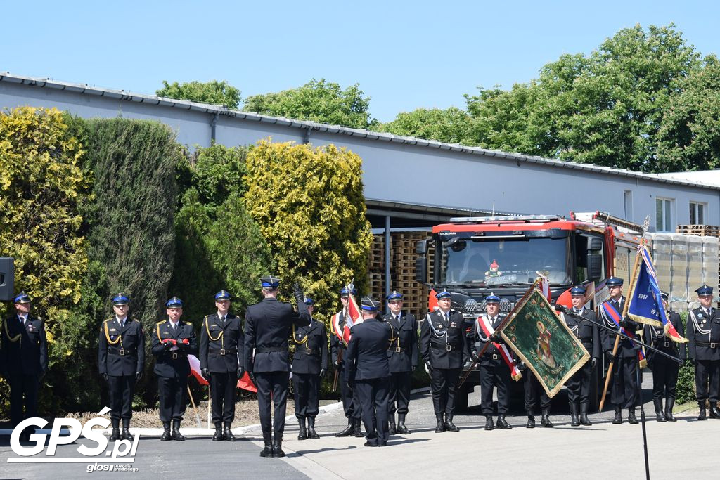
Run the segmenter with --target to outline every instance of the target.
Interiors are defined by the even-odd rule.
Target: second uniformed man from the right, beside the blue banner
[[[665,312],[667,312],[667,320],[678,331],[678,335],[685,336],[683,322],[680,315],[670,312],[670,305],[667,302],[667,294],[663,291],[660,296],[665,304]],[[645,339],[657,350],[667,353],[667,355],[680,358],[685,361],[685,345],[670,340],[665,335],[663,327],[652,327],[645,325]],[[647,353],[647,364],[652,369],[652,403],[655,406],[655,418],[658,422],[675,422],[672,416],[672,406],[675,404],[675,387],[678,386],[678,372],[680,364],[676,361],[665,358],[662,355],[656,355],[652,350]],[[662,411],[662,399],[665,397],[665,412]]]

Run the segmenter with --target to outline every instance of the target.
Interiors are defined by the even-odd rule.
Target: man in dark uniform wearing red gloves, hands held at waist
[[[160,440],[185,440],[180,423],[187,406],[187,377],[190,374],[189,354],[197,354],[195,329],[180,320],[183,302],[174,296],[165,303],[168,320],[158,322],[153,329],[152,352],[160,392],[160,420],[163,435]],[[172,434],[170,433],[172,422]]]

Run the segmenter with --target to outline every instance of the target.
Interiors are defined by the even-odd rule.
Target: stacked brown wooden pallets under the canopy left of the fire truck
[[[428,309],[428,288],[415,280],[415,260],[418,241],[428,238],[429,232],[390,233],[390,290],[402,292],[403,309],[423,315]],[[368,261],[370,294],[385,298],[385,237],[374,235]],[[432,258],[429,262],[432,268]]]

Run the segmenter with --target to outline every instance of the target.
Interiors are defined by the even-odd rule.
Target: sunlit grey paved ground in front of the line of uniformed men
[[[646,386],[649,382],[644,383]],[[644,391],[647,399],[649,392]],[[446,475],[455,478],[503,475],[523,479],[549,476],[585,476],[590,478],[618,476],[644,477],[642,426],[611,425],[612,412],[591,415],[592,427],[570,427],[567,397],[554,399],[552,429],[524,428],[526,417],[508,417],[513,430],[486,432],[484,418],[479,414],[479,394],[473,394],[470,408],[457,415],[459,433],[433,432],[432,402],[427,392],[413,396],[408,415],[412,435],[395,435],[386,448],[366,448],[364,438],[335,438],[333,433],[346,425],[338,409],[318,417],[320,440],[298,441],[297,424],[288,422],[284,459],[265,459],[258,456],[261,438],[255,428],[243,433],[243,440],[235,443],[212,443],[207,436],[189,438],[184,443],[161,443],[157,437],[145,435],[138,445],[133,466],[138,468],[131,478],[173,475],[177,478],[198,476],[230,476],[259,478],[319,478],[368,479],[410,477],[418,475]],[[688,461],[687,452],[693,445],[714,445],[720,438],[720,420],[695,420],[696,412],[676,414],[675,423],[652,420],[652,404],[646,404],[647,438],[650,474],[653,478],[679,478],[717,474],[714,457],[707,461]],[[539,419],[538,419],[539,420]],[[238,431],[237,429],[235,431]],[[58,448],[58,456],[78,456],[78,444]],[[616,452],[620,452],[617,454]],[[91,462],[81,464],[17,464],[6,463],[17,457],[0,440],[0,477],[55,479],[75,478],[86,472]],[[96,472],[95,475],[110,473]]]

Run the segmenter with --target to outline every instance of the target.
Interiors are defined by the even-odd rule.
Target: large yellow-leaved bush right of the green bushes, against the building
[[[366,291],[372,234],[365,219],[361,159],[344,148],[261,140],[248,154],[248,211],[289,294],[300,281],[329,318],[338,288]]]

